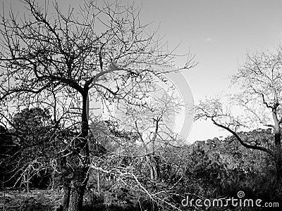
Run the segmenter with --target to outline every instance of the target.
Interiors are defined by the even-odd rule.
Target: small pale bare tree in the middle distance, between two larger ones
[[[145,155],[149,165],[150,179],[159,178],[159,158],[157,150],[167,145],[178,145],[178,134],[173,132],[176,114],[183,103],[176,97],[175,90],[159,91],[148,96],[144,103],[127,105],[123,111],[121,125],[137,134],[135,155]],[[120,120],[120,122],[121,122]],[[134,122],[133,124],[130,122]],[[136,142],[139,141],[139,144]],[[139,147],[137,147],[139,146]]]

